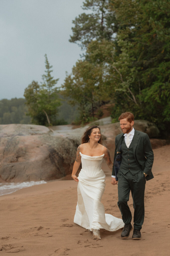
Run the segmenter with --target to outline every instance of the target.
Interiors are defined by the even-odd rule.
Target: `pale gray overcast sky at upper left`
[[[70,43],[72,20],[83,13],[83,0],[0,0],[0,100],[23,98],[25,88],[41,82],[47,54],[52,76],[65,79],[80,59]]]

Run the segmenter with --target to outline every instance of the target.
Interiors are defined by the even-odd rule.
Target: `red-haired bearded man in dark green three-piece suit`
[[[112,185],[118,184],[118,207],[122,214],[123,239],[132,230],[132,215],[127,204],[131,190],[134,208],[134,229],[132,239],[141,239],[140,229],[144,221],[144,190],[146,180],[153,178],[151,172],[153,151],[146,133],[133,128],[134,116],[130,112],[119,116],[121,134],[115,138],[115,155],[112,171]]]

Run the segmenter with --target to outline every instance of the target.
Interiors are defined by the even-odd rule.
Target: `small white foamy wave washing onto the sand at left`
[[[41,181],[30,181],[30,182],[22,182],[22,183],[0,183],[0,196],[11,194],[21,188],[32,187],[35,185],[45,184],[44,180]]]

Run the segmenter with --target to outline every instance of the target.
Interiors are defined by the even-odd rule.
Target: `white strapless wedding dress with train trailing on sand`
[[[74,222],[89,229],[116,231],[124,227],[122,219],[105,214],[101,198],[105,190],[105,174],[101,169],[104,154],[101,156],[81,155],[82,169],[78,179],[78,202]]]

